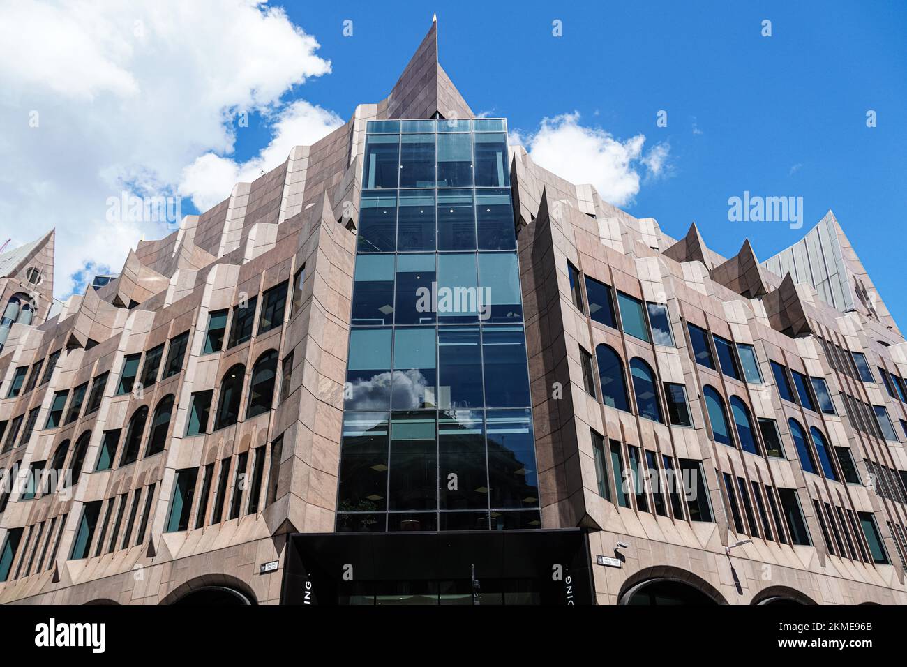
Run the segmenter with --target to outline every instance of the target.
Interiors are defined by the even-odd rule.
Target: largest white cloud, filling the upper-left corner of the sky
[[[0,5],[0,241],[15,247],[56,227],[58,296],[95,270],[120,270],[142,234],[170,230],[108,221],[109,197],[179,187],[220,201],[234,174],[286,159],[291,134],[305,143],[336,123],[281,101],[330,72],[317,49],[282,9],[255,0]],[[233,152],[240,111],[277,119],[260,168],[219,157]],[[206,183],[223,190],[215,197]]]

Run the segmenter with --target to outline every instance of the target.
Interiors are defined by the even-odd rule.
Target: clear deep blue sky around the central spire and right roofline
[[[756,6],[758,5],[758,6]],[[377,102],[427,31],[424,3],[287,4],[289,18],[330,59],[332,73],[297,86],[348,118]],[[748,237],[765,259],[833,210],[882,298],[907,325],[902,251],[907,210],[907,4],[445,3],[440,60],[476,113],[534,132],[542,118],[580,113],[619,141],[667,142],[668,170],[644,175],[623,208],[682,236],[696,221],[708,245],[736,253]],[[342,24],[353,21],[345,37]],[[561,37],[551,34],[560,19]],[[772,35],[762,36],[762,21]],[[659,110],[668,126],[656,126]],[[866,127],[866,112],[877,126]],[[268,141],[253,118],[236,158]],[[804,198],[804,229],[730,222],[744,191]]]

